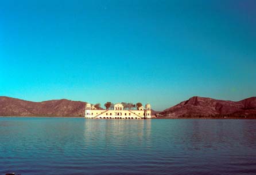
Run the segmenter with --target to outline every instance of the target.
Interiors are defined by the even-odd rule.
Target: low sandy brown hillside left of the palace
[[[84,116],[86,102],[50,100],[32,102],[0,97],[0,116]]]

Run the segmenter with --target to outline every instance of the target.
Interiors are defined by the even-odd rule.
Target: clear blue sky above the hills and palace
[[[256,96],[256,1],[0,0],[0,96],[142,102]]]

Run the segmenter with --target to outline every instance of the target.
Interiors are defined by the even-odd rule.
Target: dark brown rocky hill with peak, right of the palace
[[[165,117],[250,116],[256,115],[256,97],[238,102],[192,97],[160,113]]]

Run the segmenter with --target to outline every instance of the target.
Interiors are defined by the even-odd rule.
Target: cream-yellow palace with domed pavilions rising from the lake
[[[91,104],[86,104],[85,118],[104,118],[104,119],[150,119],[151,106],[146,104],[137,110],[124,110],[122,104],[115,104],[111,110],[99,110]]]

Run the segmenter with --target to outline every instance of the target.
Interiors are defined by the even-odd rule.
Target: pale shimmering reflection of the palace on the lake
[[[84,138],[104,140],[106,145],[143,144],[150,140],[151,120],[84,120]],[[135,141],[134,141],[135,140]]]

